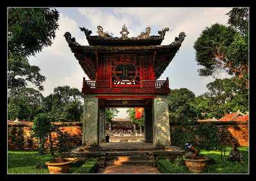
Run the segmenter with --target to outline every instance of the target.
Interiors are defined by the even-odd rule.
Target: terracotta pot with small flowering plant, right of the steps
[[[200,150],[195,150],[190,143],[185,144],[185,150],[189,150],[184,155],[184,162],[188,169],[193,173],[202,173],[210,159],[200,155]]]

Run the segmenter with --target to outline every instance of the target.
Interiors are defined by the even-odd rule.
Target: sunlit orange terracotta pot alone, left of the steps
[[[68,173],[70,168],[70,163],[73,161],[66,161],[63,163],[45,163],[48,166],[48,170],[50,173]]]

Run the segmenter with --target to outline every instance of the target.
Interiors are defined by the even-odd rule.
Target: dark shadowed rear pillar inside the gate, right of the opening
[[[153,142],[152,107],[144,108],[144,139],[147,143]]]

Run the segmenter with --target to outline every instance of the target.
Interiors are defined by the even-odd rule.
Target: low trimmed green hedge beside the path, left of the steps
[[[98,163],[97,159],[90,158],[84,163],[80,168],[78,168],[73,173],[97,173]]]

